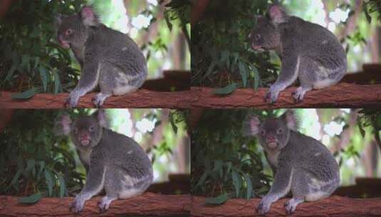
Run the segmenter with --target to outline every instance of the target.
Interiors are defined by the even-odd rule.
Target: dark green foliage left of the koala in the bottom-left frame
[[[0,133],[0,194],[63,197],[81,188],[85,176],[75,170],[75,154],[68,138],[57,138],[53,120],[61,111],[16,110]],[[82,112],[83,113],[83,112]]]

